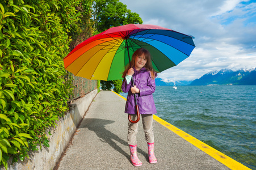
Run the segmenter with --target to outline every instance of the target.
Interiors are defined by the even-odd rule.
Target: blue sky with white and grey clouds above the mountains
[[[166,82],[194,80],[221,69],[256,67],[256,0],[119,0],[143,24],[192,35],[190,57],[158,74]]]

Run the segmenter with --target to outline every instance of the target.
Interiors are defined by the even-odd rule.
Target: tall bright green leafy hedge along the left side
[[[68,107],[62,59],[79,31],[73,0],[0,1],[0,165],[48,146],[47,129]]]

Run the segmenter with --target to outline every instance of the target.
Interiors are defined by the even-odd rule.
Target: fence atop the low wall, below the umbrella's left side
[[[67,73],[65,80],[69,81],[71,79],[73,83],[73,93],[69,96],[69,101],[83,96],[97,88],[97,80],[89,80],[80,76],[75,76],[68,71]]]

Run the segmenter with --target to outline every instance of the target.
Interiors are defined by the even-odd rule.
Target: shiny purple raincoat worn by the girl
[[[156,82],[151,78],[150,71],[144,67],[137,71],[133,68],[135,73],[133,74],[133,80],[137,88],[140,89],[140,93],[136,94],[137,104],[139,105],[140,114],[154,114],[157,113],[156,106],[154,105],[153,92],[156,90]],[[157,74],[156,74],[157,75]],[[124,78],[122,84],[122,91],[127,93],[127,101],[125,105],[125,113],[136,114],[136,104],[134,94],[131,92],[132,80],[127,84]]]

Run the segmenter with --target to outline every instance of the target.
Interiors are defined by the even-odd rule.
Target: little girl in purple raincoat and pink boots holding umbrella
[[[131,78],[135,86],[132,86]],[[132,55],[131,68],[128,66],[123,73],[122,91],[127,93],[127,101],[125,105],[125,113],[131,115],[131,119],[135,121],[136,104],[134,94],[137,96],[137,103],[142,117],[146,142],[148,142],[149,163],[157,163],[154,156],[154,133],[153,133],[153,114],[157,113],[154,105],[153,92],[156,89],[157,74],[153,70],[150,53],[144,48],[137,49]],[[131,162],[135,166],[142,165],[137,157],[137,141],[136,134],[138,132],[138,122],[128,124],[128,145],[131,152]]]

